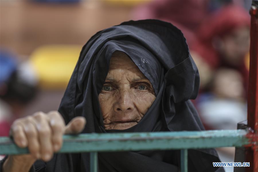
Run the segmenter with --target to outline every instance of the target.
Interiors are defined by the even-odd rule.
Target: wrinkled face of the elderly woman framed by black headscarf
[[[99,93],[105,130],[125,130],[136,125],[155,98],[150,81],[126,54],[116,51]]]

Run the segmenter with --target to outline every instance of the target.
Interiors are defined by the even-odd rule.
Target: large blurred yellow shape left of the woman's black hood
[[[82,45],[46,45],[34,50],[32,64],[43,89],[65,89],[73,73]]]

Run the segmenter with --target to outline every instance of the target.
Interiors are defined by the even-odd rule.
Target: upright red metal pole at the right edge
[[[250,162],[247,171],[258,172],[258,1],[253,0],[250,9],[250,70],[248,83],[247,125],[254,130],[252,147],[247,149],[246,161]]]

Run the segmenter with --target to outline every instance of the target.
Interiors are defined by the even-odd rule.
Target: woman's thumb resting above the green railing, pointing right
[[[78,134],[84,129],[85,124],[86,119],[83,116],[77,116],[65,126],[64,134]]]

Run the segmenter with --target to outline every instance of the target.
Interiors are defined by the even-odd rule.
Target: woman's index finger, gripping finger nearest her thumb
[[[49,112],[48,118],[50,119],[49,124],[52,129],[52,144],[53,149],[57,152],[62,147],[63,134],[65,129],[64,119],[57,111]]]

